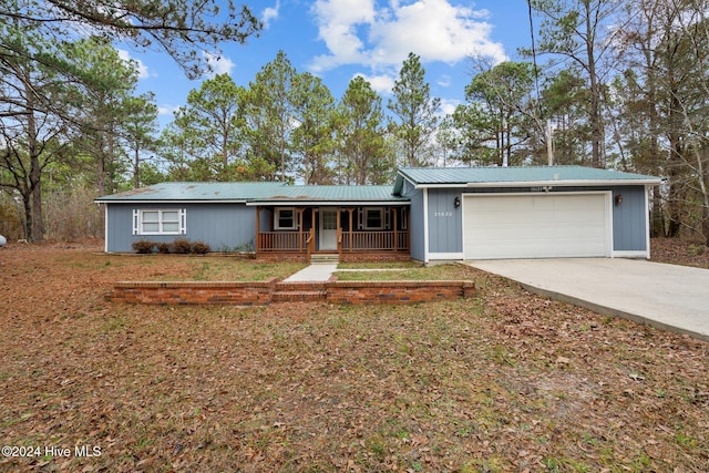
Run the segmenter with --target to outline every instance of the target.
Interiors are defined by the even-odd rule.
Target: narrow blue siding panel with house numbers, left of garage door
[[[429,189],[429,253],[463,251],[463,209],[455,208],[460,189]]]

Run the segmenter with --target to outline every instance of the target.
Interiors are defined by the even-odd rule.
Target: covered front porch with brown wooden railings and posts
[[[256,207],[257,258],[310,261],[410,258],[409,205],[295,205]]]

